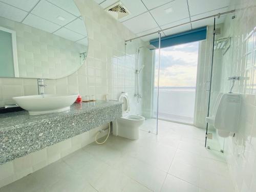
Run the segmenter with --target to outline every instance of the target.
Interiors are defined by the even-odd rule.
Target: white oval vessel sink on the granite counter
[[[13,100],[30,115],[63,112],[70,109],[77,94],[72,95],[30,95],[13,97]]]

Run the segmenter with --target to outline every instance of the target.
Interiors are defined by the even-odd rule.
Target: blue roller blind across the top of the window
[[[189,31],[161,37],[161,48],[176,46],[179,44],[187,44],[188,42],[194,42],[206,39],[207,27],[201,27],[192,29]],[[159,38],[150,40],[150,44],[158,48]]]

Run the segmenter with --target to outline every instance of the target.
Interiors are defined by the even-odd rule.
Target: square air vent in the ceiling
[[[127,10],[122,2],[117,2],[107,7],[105,10],[117,20],[130,14],[130,11]]]

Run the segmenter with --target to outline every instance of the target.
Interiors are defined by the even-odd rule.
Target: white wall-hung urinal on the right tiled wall
[[[240,94],[223,94],[216,111],[214,127],[217,130],[237,133],[240,115],[240,105]]]

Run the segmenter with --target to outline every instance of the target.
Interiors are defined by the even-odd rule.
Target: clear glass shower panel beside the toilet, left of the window
[[[125,43],[125,92],[129,95],[131,113],[145,117],[140,130],[157,134],[158,74],[160,49],[141,38]],[[157,72],[156,72],[157,70]]]

